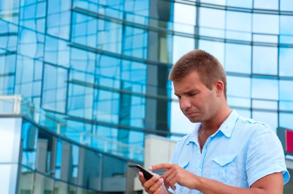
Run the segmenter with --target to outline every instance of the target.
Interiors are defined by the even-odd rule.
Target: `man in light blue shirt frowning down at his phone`
[[[146,181],[148,194],[282,194],[290,175],[282,145],[267,124],[239,116],[227,104],[226,73],[209,53],[193,50],[171,69],[180,109],[200,123],[175,146],[161,177]],[[164,184],[166,188],[164,187]]]

